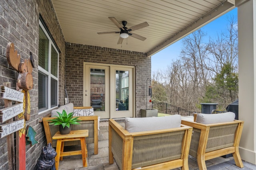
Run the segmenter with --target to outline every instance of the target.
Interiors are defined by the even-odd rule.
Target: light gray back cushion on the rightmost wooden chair
[[[219,114],[204,114],[198,113],[196,116],[197,123],[210,124],[210,123],[223,123],[228,121],[234,121],[235,113],[226,112]]]

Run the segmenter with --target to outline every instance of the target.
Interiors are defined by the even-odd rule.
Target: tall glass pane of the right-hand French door
[[[116,70],[116,111],[129,110],[129,72]]]

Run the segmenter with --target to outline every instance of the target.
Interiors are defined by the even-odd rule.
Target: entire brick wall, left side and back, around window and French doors
[[[143,53],[122,51],[94,47],[88,45],[76,45],[66,43],[58,24],[51,0],[1,0],[0,3],[0,85],[3,82],[11,82],[11,87],[16,88],[18,72],[10,68],[6,60],[6,46],[13,42],[15,49],[22,59],[29,57],[31,51],[34,56],[35,68],[33,68],[33,89],[30,90],[31,112],[30,125],[37,132],[38,144],[26,146],[26,169],[33,169],[46,145],[46,138],[42,123],[38,122],[38,31],[39,14],[41,14],[50,33],[60,49],[59,60],[59,104],[64,104],[65,98],[65,72],[66,83],[70,102],[75,106],[83,104],[83,62],[107,63],[135,66],[136,74],[136,117],[140,117],[140,108],[145,108],[146,79],[151,74],[151,59]],[[65,53],[65,48],[67,53]],[[65,60],[66,56],[66,60]],[[0,100],[0,109],[4,108],[3,100]],[[3,124],[3,123],[1,123]],[[6,137],[0,139],[0,169],[9,169],[7,156]]]

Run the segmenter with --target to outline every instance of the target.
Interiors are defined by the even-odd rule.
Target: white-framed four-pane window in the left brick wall
[[[59,53],[43,23],[39,22],[38,111],[58,106]]]

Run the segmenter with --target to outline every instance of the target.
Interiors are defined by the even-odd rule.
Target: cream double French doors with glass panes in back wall
[[[134,68],[97,64],[84,63],[84,106],[100,119],[133,117]]]

